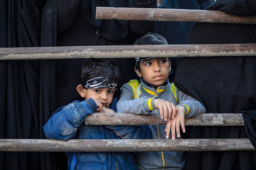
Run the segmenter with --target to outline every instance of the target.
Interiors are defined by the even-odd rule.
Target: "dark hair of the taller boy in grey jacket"
[[[168,42],[166,38],[164,38],[162,35],[159,35],[158,33],[146,33],[142,37],[138,38],[134,45],[168,45]],[[135,68],[140,70],[140,64],[141,61],[135,62]]]

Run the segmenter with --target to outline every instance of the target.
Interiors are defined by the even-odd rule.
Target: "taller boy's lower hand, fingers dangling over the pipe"
[[[185,117],[185,108],[183,106],[177,106],[178,112],[176,114],[176,118],[173,120],[169,120],[169,122],[166,125],[166,129],[164,132],[166,132],[166,138],[169,138],[170,130],[171,130],[171,139],[175,140],[175,130],[177,133],[177,137],[181,137],[180,132],[180,125],[183,132],[186,132],[185,129],[185,123],[184,123],[184,117]]]

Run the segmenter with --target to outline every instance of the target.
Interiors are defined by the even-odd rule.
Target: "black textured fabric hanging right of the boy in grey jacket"
[[[255,1],[220,0],[208,8],[249,15]],[[196,23],[187,44],[255,43],[256,26],[227,23]],[[174,83],[197,98],[207,113],[239,113],[256,108],[255,57],[182,58]],[[255,113],[255,112],[254,112]],[[187,127],[189,138],[248,138],[253,142],[255,120],[245,117],[245,127]],[[255,116],[254,116],[255,117]],[[248,121],[249,120],[249,121]],[[250,128],[247,128],[249,126]],[[252,132],[249,135],[248,132]],[[255,138],[255,137],[254,137]],[[187,152],[185,169],[256,169],[256,152]]]

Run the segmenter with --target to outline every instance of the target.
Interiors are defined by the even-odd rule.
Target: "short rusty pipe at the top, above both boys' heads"
[[[233,16],[223,11],[171,8],[97,7],[96,19],[256,24],[256,16]]]

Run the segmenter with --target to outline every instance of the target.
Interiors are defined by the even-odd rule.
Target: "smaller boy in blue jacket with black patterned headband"
[[[94,112],[115,112],[120,75],[114,60],[87,59],[82,64],[82,83],[77,91],[85,101],[73,101],[59,108],[44,126],[46,137],[54,140],[148,138],[146,126],[85,125]],[[68,152],[68,169],[137,169],[129,152]]]

